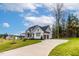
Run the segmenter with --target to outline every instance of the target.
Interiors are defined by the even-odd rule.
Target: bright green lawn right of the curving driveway
[[[79,38],[69,38],[69,41],[56,46],[49,56],[79,56]]]

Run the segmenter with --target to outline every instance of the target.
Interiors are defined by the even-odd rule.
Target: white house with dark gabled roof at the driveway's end
[[[50,26],[32,26],[26,30],[26,37],[28,39],[51,39],[52,28]]]

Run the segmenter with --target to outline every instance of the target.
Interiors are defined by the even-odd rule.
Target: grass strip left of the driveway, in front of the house
[[[38,42],[41,42],[41,40],[26,40],[24,42],[22,40],[16,40],[16,44],[11,44],[12,40],[2,40],[2,41],[0,40],[0,52],[35,44]]]

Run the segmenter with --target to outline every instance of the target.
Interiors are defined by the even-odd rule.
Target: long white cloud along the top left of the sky
[[[40,5],[34,3],[6,3],[1,6],[1,9],[8,11],[24,12],[25,9],[30,9],[32,12],[35,12],[36,8]]]

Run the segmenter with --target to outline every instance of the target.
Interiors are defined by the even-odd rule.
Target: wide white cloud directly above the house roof
[[[51,16],[41,16],[41,17],[25,17],[24,25],[27,26],[27,22],[31,25],[51,25],[55,23],[55,18]]]

